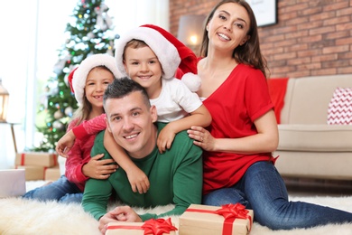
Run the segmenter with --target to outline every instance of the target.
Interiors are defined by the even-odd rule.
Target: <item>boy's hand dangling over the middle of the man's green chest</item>
[[[150,183],[148,177],[144,172],[139,169],[137,166],[133,167],[133,169],[126,171],[128,181],[131,184],[132,191],[136,193],[142,194],[147,193]]]

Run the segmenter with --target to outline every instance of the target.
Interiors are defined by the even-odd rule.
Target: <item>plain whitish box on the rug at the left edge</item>
[[[25,193],[23,169],[0,170],[0,198],[22,196]]]

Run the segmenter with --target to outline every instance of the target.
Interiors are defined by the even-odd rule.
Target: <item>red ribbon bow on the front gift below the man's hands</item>
[[[177,230],[171,223],[171,218],[164,219],[151,219],[144,221],[142,225],[145,234],[162,235],[162,233],[170,233],[171,230]]]

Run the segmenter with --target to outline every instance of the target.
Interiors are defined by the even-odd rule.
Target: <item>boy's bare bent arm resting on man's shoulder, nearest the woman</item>
[[[173,138],[182,130],[190,129],[192,126],[208,127],[211,123],[211,115],[204,105],[190,112],[190,116],[170,122],[160,132],[157,146],[160,153],[171,147]]]

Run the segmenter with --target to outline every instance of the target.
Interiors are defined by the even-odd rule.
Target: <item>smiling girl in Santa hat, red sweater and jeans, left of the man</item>
[[[73,76],[72,76],[73,75]],[[121,77],[114,57],[96,54],[82,61],[79,68],[69,74],[69,84],[79,102],[79,109],[69,123],[68,131],[86,120],[104,113],[103,94],[107,85]],[[81,202],[84,186],[89,177],[107,179],[116,171],[112,160],[101,160],[103,155],[90,157],[95,136],[76,141],[66,161],[66,172],[59,180],[36,188],[23,195],[40,201]]]

